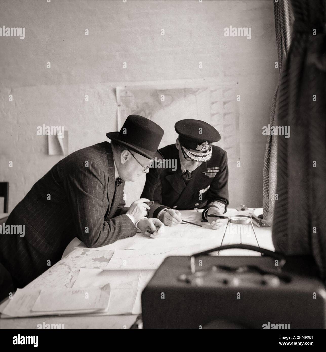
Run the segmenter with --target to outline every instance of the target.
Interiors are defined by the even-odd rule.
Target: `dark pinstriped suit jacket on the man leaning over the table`
[[[124,182],[115,187],[111,145],[78,150],[47,172],[9,215],[6,225],[25,225],[25,236],[0,235],[0,262],[15,287],[24,287],[60,260],[72,238],[100,247],[133,236],[125,215]],[[50,199],[48,199],[50,198]]]

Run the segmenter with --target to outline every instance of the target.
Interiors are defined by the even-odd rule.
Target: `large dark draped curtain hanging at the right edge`
[[[292,1],[292,43],[282,70],[273,243],[289,255],[313,254],[326,277],[325,1]],[[313,35],[313,30],[317,35]],[[313,95],[317,101],[313,101]],[[316,162],[314,167],[314,162]]]

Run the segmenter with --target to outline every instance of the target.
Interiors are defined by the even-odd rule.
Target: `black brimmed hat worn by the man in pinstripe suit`
[[[139,115],[129,115],[120,132],[108,132],[106,136],[128,149],[153,159],[157,156],[164,131],[150,119]]]

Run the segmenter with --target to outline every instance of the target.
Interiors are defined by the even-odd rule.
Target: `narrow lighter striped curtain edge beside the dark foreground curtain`
[[[277,46],[277,56],[279,63],[279,73],[282,72],[282,62],[288,52],[291,38],[291,28],[293,24],[293,14],[288,0],[274,2],[275,36]],[[277,109],[279,98],[279,83],[277,83],[271,109],[270,126],[277,125]],[[277,138],[267,136],[264,169],[263,169],[263,217],[272,222],[275,206],[275,193],[277,182]]]

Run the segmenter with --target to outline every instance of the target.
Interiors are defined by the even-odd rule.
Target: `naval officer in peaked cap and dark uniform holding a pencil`
[[[146,175],[141,197],[152,201],[148,217],[174,226],[181,224],[179,210],[204,209],[203,219],[217,230],[224,220],[207,215],[223,215],[229,204],[226,151],[212,145],[221,139],[220,134],[201,120],[180,120],[174,128],[179,135],[175,144],[159,151],[166,161],[176,159],[177,168],[153,167]]]

